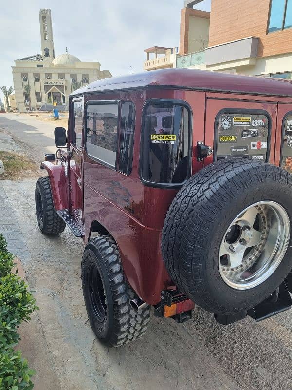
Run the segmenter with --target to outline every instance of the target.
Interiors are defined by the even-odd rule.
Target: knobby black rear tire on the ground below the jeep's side
[[[102,283],[104,292],[104,319],[100,313],[96,314],[92,304],[90,273],[94,267],[97,267],[101,278],[99,284]],[[131,306],[130,300],[136,294],[125,281],[119,250],[112,237],[103,235],[88,242],[82,258],[81,277],[91,328],[103,344],[119,347],[145,334],[150,321],[150,306],[139,310]],[[96,291],[97,286],[94,289]]]

